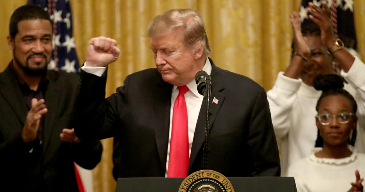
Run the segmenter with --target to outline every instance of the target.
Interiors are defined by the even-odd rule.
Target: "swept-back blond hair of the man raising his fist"
[[[155,16],[147,28],[147,37],[153,39],[180,27],[184,30],[182,41],[187,47],[195,51],[203,45],[203,56],[210,56],[212,50],[203,19],[200,13],[193,9],[172,9]]]

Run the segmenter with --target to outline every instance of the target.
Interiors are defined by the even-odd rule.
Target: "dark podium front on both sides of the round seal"
[[[227,177],[235,192],[297,192],[294,177]],[[118,178],[115,192],[178,192],[185,178]]]

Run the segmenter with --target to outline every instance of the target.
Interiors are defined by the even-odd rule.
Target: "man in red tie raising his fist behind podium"
[[[76,135],[81,139],[118,136],[119,177],[186,177],[203,169],[206,103],[197,91],[195,75],[204,70],[213,86],[207,168],[228,177],[280,176],[265,90],[214,65],[199,12],[169,10],[156,16],[147,37],[157,68],[128,75],[124,86],[106,99],[106,66],[120,51],[114,39],[91,39],[75,107]],[[181,96],[181,91],[187,92]],[[186,116],[175,117],[175,108],[180,108],[177,100],[184,101],[187,121]],[[181,137],[187,139],[181,143],[174,131],[179,124],[186,124]],[[179,151],[185,147],[188,150]],[[187,156],[176,160],[172,157],[176,153]],[[185,157],[188,161],[180,161]],[[170,166],[176,161],[177,166]],[[177,170],[180,167],[184,169]]]

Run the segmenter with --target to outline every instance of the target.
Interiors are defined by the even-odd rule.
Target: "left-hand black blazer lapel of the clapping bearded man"
[[[19,84],[9,66],[0,74],[0,94],[9,103],[19,121],[24,125],[28,108],[19,89]]]

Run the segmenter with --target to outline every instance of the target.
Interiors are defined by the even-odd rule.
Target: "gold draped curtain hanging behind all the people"
[[[150,20],[171,8],[193,8],[203,16],[213,53],[221,68],[246,75],[269,90],[290,56],[289,13],[300,0],[70,0],[74,39],[80,62],[86,59],[89,39],[107,36],[118,41],[119,59],[110,65],[107,96],[123,85],[126,75],[155,67],[145,31]],[[11,60],[6,36],[11,13],[26,0],[0,0],[0,71]],[[354,1],[360,55],[365,58],[365,1]],[[94,169],[95,192],[112,192],[112,139],[103,140],[101,163]]]

